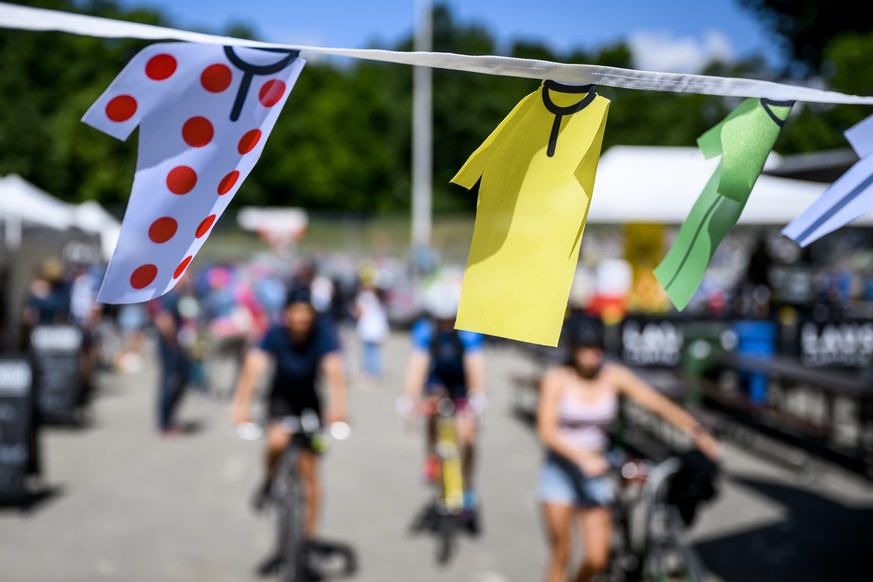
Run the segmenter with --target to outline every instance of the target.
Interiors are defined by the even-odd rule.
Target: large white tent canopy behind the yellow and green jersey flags
[[[771,154],[767,167],[778,165]],[[719,158],[707,160],[694,147],[613,146],[603,153],[588,213],[589,224],[654,222],[680,224],[688,216]],[[762,174],[739,224],[784,226],[829,184]],[[853,225],[873,225],[873,215]]]

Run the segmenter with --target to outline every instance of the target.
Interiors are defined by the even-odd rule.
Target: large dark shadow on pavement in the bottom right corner
[[[732,478],[781,504],[786,518],[696,545],[722,580],[843,582],[870,580],[873,508],[855,509],[810,491],[751,478]]]

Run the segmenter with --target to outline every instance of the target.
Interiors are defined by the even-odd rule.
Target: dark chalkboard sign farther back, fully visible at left
[[[82,332],[72,325],[41,325],[30,335],[41,421],[75,419],[82,390]]]

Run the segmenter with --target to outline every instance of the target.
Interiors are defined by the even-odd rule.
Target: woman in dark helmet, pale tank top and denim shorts
[[[610,554],[613,501],[606,458],[609,425],[625,397],[684,431],[712,460],[717,441],[688,412],[637,377],[604,358],[600,320],[574,316],[564,327],[567,360],[546,372],[540,385],[537,434],[547,450],[537,497],[549,542],[547,582],[565,582],[572,552],[571,529],[582,534],[578,582],[602,571]]]

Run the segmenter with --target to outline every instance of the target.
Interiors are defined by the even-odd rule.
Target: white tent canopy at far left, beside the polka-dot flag
[[[68,204],[40,190],[21,176],[0,178],[0,218],[20,221],[25,226],[55,230],[78,228],[100,235],[104,258],[109,258],[118,242],[121,223],[94,201]]]

